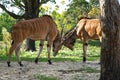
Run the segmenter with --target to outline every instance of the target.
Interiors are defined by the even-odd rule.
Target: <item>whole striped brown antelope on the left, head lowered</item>
[[[11,56],[15,50],[15,54],[18,60],[18,64],[23,66],[19,57],[20,46],[26,38],[33,40],[40,40],[39,53],[35,59],[35,63],[38,63],[38,58],[42,52],[44,41],[47,41],[47,50],[48,50],[48,62],[50,61],[50,50],[53,46],[53,55],[55,56],[58,50],[61,48],[61,36],[57,30],[57,25],[53,21],[52,17],[49,15],[44,15],[40,18],[35,18],[31,20],[20,21],[13,25],[12,31],[12,44],[8,54],[8,66],[10,65]]]

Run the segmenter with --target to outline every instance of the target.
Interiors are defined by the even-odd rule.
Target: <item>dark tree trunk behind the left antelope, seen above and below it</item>
[[[39,16],[39,0],[24,0],[25,4],[25,19],[32,19]],[[27,39],[26,41],[26,51],[36,51],[35,41]]]

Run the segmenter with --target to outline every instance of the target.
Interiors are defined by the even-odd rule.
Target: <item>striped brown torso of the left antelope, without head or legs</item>
[[[12,27],[12,39],[17,41],[30,38],[33,40],[54,40],[57,35],[57,25],[52,17],[45,15],[40,18],[20,21]],[[19,37],[18,37],[19,36]]]

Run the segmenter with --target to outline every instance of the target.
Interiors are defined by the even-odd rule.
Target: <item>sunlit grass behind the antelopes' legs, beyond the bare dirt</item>
[[[24,44],[23,44],[21,51],[20,51],[22,60],[34,61],[34,58],[37,56],[37,53],[38,53],[38,49],[39,49],[38,45],[39,45],[39,42],[36,41],[37,51],[26,52],[23,49],[24,48]],[[43,48],[43,51],[42,51],[39,61],[47,61],[47,51],[46,50],[47,50],[46,45],[44,45],[44,48]],[[53,57],[52,53],[51,53],[51,59],[52,59],[52,61],[66,61],[66,60],[81,61],[82,54],[83,54],[82,42],[80,40],[77,40],[73,51],[71,51],[70,49],[63,46],[56,57]],[[88,49],[87,49],[87,60],[89,60],[89,61],[99,60],[99,56],[100,56],[100,42],[98,40],[89,41]],[[0,61],[6,61],[6,59],[7,59],[6,49],[1,48]],[[12,56],[12,60],[16,61],[16,57],[14,54]]]

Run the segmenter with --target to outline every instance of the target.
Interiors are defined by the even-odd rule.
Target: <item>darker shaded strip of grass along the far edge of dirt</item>
[[[7,61],[7,56],[0,56],[0,61]],[[12,61],[17,61],[16,59],[16,56],[12,56],[11,58]],[[21,60],[22,61],[33,61],[35,60],[34,57],[21,57]],[[51,58],[51,60],[53,62],[59,62],[59,61],[72,61],[72,62],[75,62],[75,61],[82,61],[82,56],[80,58],[60,58],[60,57],[56,57],[56,58]],[[90,56],[90,57],[87,57],[87,60],[88,61],[96,61],[96,60],[99,60],[99,56]],[[47,62],[48,59],[47,58],[39,58],[39,62]]]

